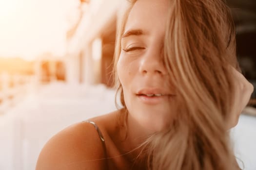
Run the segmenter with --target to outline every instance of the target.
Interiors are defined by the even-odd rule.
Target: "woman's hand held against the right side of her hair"
[[[235,68],[230,67],[232,74],[234,74],[234,83],[235,83],[235,89],[234,89],[234,102],[232,106],[232,114],[229,118],[228,128],[233,128],[236,126],[240,113],[245,108],[247,103],[249,102],[251,95],[254,91],[254,86],[246,80],[246,78],[238,72]]]

